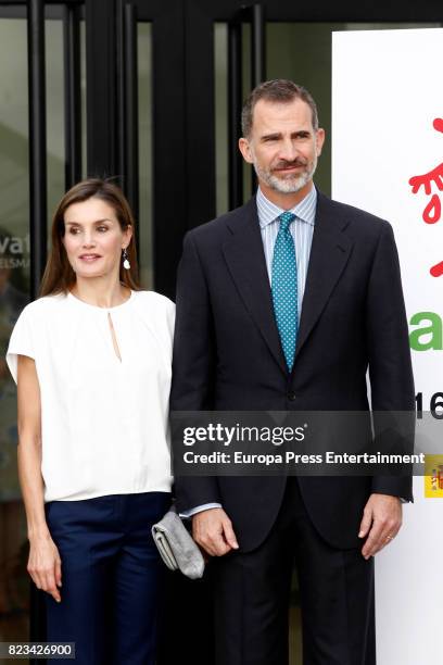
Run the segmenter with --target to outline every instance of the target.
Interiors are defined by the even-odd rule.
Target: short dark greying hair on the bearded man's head
[[[289,103],[294,99],[301,99],[309,106],[313,127],[315,130],[318,129],[317,104],[311,92],[308,92],[306,88],[303,88],[303,86],[298,86],[292,80],[275,78],[274,80],[265,80],[265,83],[254,88],[243,104],[241,112],[241,129],[245,138],[251,136],[254,108],[261,99],[280,104]]]

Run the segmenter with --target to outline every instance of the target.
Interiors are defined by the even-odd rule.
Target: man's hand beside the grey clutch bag
[[[211,556],[238,550],[232,524],[223,509],[208,509],[192,516],[192,537]]]

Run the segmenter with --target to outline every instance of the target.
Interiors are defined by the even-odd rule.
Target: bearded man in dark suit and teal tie
[[[325,133],[305,89],[262,84],[242,123],[258,190],[186,236],[172,409],[367,411],[369,368],[375,411],[413,411],[391,226],[314,187]],[[294,559],[305,665],[375,663],[372,557],[410,478],[182,477],[176,490],[214,557],[217,665],[288,662]]]

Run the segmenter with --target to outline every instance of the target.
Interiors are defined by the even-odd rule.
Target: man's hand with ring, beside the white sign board
[[[402,526],[402,502],[389,494],[371,494],[363,512],[358,538],[368,538],[362,548],[367,560],[374,556],[400,531]]]

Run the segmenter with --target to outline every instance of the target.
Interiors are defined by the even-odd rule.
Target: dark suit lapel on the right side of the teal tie
[[[346,225],[338,218],[333,202],[318,192],[294,365],[350,258],[352,240],[342,233]]]

